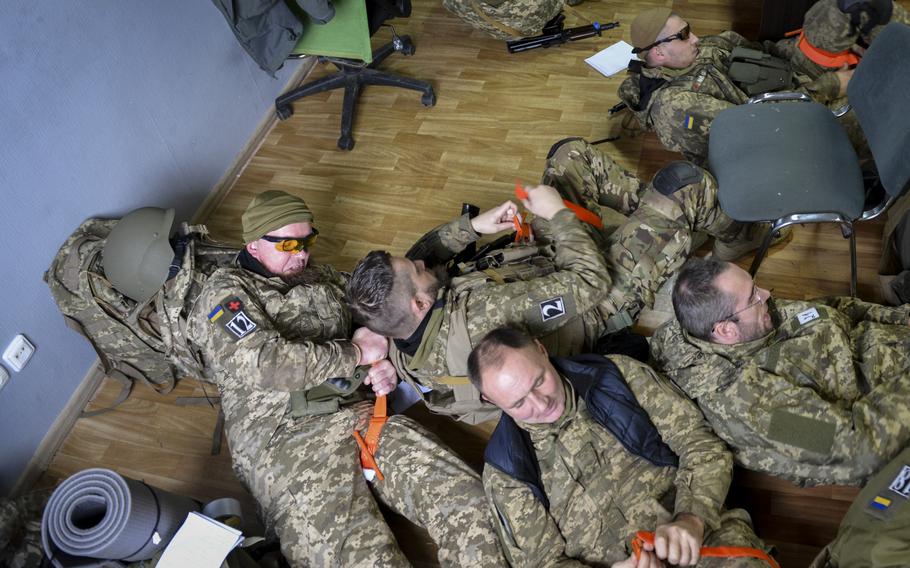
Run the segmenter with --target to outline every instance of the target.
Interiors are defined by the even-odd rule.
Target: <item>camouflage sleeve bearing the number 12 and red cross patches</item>
[[[230,286],[231,283],[235,285]],[[224,310],[225,301],[239,302],[238,313],[252,324],[244,327],[240,337],[221,322],[222,318],[235,314],[222,315],[213,321],[217,316],[215,310]],[[259,389],[294,391],[316,386],[332,377],[348,377],[359,359],[357,348],[346,339],[315,342],[304,337],[284,337],[258,298],[239,281],[207,286],[190,315],[187,333],[216,368],[250,381]]]

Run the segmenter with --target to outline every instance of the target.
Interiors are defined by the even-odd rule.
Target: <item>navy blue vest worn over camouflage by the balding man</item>
[[[679,458],[663,441],[651,417],[638,404],[615,363],[600,355],[550,359],[565,376],[595,422],[606,428],[629,453],[659,466],[679,466]],[[484,451],[484,462],[528,485],[549,508],[540,464],[527,431],[503,414]]]

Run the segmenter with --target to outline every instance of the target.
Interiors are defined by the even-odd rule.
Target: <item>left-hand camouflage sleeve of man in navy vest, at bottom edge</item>
[[[566,556],[566,541],[559,527],[527,485],[487,465],[483,486],[509,564],[529,568],[587,566]]]

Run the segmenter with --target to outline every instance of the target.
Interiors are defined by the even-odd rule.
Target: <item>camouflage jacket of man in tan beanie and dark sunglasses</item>
[[[668,150],[681,152],[688,160],[704,165],[708,158],[708,131],[711,121],[722,110],[740,105],[749,96],[729,76],[730,54],[735,47],[759,49],[789,58],[792,40],[764,45],[750,42],[736,32],[707,36],[699,43],[695,62],[684,69],[646,68],[640,73],[630,68],[619,87],[619,98],[629,105],[638,121],[654,130]],[[812,80],[797,75],[799,91],[814,100],[828,103],[837,98],[839,84],[832,73]],[[641,85],[663,82],[650,96],[643,96]]]

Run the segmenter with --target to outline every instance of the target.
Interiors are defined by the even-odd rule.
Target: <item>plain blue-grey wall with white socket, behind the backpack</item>
[[[38,348],[0,391],[0,495],[94,360],[41,280],[57,248],[91,216],[189,218],[292,71],[261,71],[209,0],[0,2],[0,350]]]

